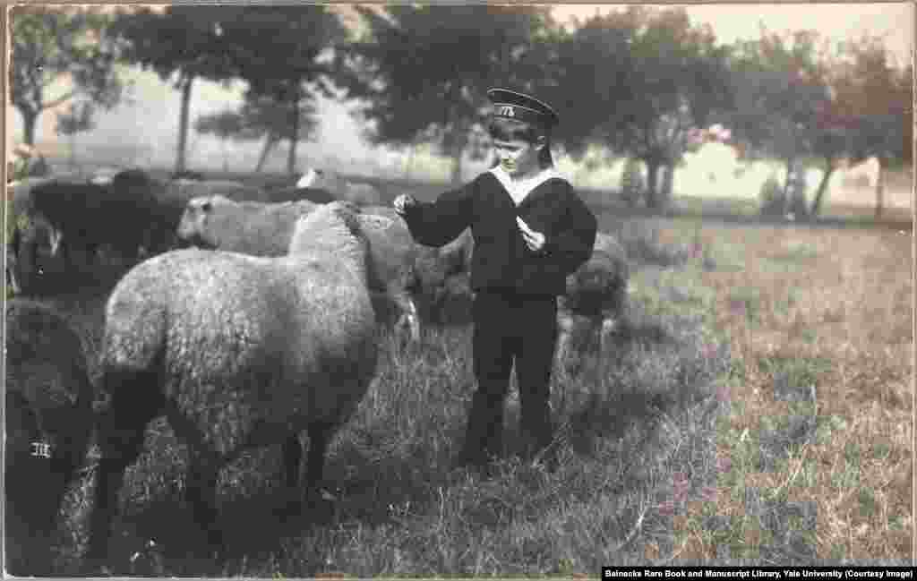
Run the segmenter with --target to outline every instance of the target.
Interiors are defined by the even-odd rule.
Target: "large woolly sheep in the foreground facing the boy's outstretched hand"
[[[221,558],[215,484],[243,451],[282,443],[293,495],[284,508],[295,511],[305,431],[306,499],[318,499],[328,442],[377,367],[368,242],[357,212],[329,203],[300,218],[287,256],[174,250],[118,282],[100,356],[110,399],[98,421],[90,568],[107,557],[118,488],[145,426],[163,414],[188,445],[194,520]]]

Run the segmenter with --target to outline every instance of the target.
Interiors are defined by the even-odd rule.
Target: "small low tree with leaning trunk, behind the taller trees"
[[[300,125],[296,131],[293,131],[293,127],[289,125],[288,105],[277,103],[271,97],[247,94],[245,103],[238,110],[226,110],[199,118],[196,129],[201,133],[216,133],[224,139],[234,141],[257,141],[263,138],[264,147],[261,149],[258,164],[255,166],[255,171],[258,172],[263,168],[271,149],[278,143],[284,139],[292,141],[294,137],[297,139],[310,138],[318,126],[318,120],[315,118],[315,105],[305,101],[299,104]],[[216,130],[217,126],[224,128],[225,131],[220,134]]]

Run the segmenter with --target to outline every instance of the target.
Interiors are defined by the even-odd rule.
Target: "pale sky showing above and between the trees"
[[[584,19],[597,11],[607,11],[622,5],[553,5],[553,15],[561,22],[570,18]],[[722,43],[736,39],[759,37],[759,24],[768,30],[782,32],[798,29],[813,29],[824,38],[843,40],[858,38],[864,33],[882,35],[886,46],[901,63],[911,59],[913,46],[914,15],[911,3],[885,4],[708,4],[684,5],[691,22],[706,23],[713,28],[716,38]],[[344,12],[349,12],[346,6]],[[448,9],[443,6],[443,9]],[[351,12],[352,14],[352,12]],[[134,82],[133,103],[123,104],[111,112],[98,117],[94,131],[78,137],[79,148],[114,148],[119,151],[137,151],[138,164],[149,160],[171,165],[177,141],[177,124],[180,109],[179,93],[168,83],[161,82],[152,74],[130,71]],[[242,84],[236,83],[231,90],[210,82],[198,82],[194,86],[191,119],[227,108],[234,108],[241,102]],[[303,143],[300,151],[312,164],[338,166],[337,170],[355,167],[377,166],[404,167],[407,163],[402,153],[379,148],[370,148],[359,137],[359,121],[353,119],[348,110],[352,105],[337,104],[329,100],[319,103],[321,125],[315,143]],[[7,108],[8,127],[13,130],[7,136],[7,143],[18,141],[21,136],[21,119],[12,108]],[[40,142],[54,142],[54,115],[45,114],[40,119],[38,131]],[[254,166],[260,151],[260,144],[245,146],[222,146],[210,137],[192,136],[189,147],[192,166],[220,166],[226,160],[233,167]],[[285,148],[279,148],[271,159],[271,169],[282,170],[286,157]],[[447,164],[426,159],[430,171],[447,171]],[[436,167],[434,167],[436,166]],[[215,168],[216,169],[216,168]],[[378,168],[377,168],[378,169]],[[359,171],[358,171],[359,172]],[[367,171],[371,172],[371,171]]]

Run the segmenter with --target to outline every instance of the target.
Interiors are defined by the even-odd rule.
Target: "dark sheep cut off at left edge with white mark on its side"
[[[37,301],[6,301],[9,571],[47,574],[48,535],[93,432],[94,390],[79,335]],[[12,541],[12,542],[10,542]]]

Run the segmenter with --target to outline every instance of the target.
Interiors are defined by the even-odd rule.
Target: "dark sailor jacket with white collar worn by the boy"
[[[567,276],[591,257],[597,223],[568,181],[554,171],[544,175],[547,179],[516,205],[505,174],[494,168],[436,202],[410,206],[404,220],[414,239],[430,247],[471,228],[473,291],[557,296],[565,291]],[[545,235],[541,251],[526,246],[516,216]]]

